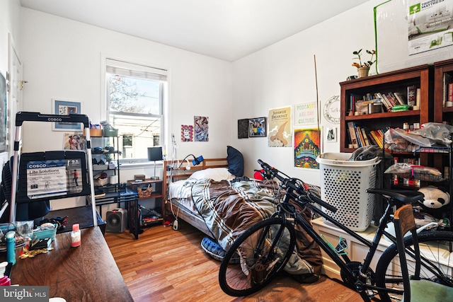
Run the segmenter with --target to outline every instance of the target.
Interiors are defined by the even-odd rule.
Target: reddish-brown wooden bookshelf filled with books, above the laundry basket
[[[432,121],[432,78],[432,66],[423,65],[341,82],[340,152],[353,152],[360,146],[360,144],[353,144],[350,139],[350,127],[348,127],[350,124],[354,124],[356,128],[360,128],[360,132],[358,132],[359,135],[362,134],[363,136],[363,133],[365,132],[368,136],[370,132],[377,130],[381,130],[384,133],[388,127],[403,128],[404,123],[412,125]],[[360,98],[360,96],[362,96],[362,99],[364,96],[365,98],[375,99],[375,96],[379,95],[379,93],[385,95],[391,95],[393,93],[400,96],[403,95],[403,98],[407,101],[408,88],[413,86],[418,88],[417,97],[419,98],[418,107],[415,107],[414,110],[389,112],[386,109],[383,109],[383,112],[365,114],[367,113],[367,110],[363,110],[362,108],[357,113],[350,113],[352,110],[357,111],[357,108],[355,108],[357,105],[355,105],[355,102],[352,102],[352,99]],[[383,108],[384,107],[385,106],[383,106]],[[374,143],[369,136],[367,139],[372,144]],[[423,157],[424,156],[422,156],[422,162]]]

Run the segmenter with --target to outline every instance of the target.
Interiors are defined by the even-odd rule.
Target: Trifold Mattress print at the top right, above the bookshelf
[[[409,55],[453,45],[453,1],[408,1]]]

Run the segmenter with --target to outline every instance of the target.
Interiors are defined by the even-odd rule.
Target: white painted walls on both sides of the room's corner
[[[97,122],[103,118],[101,57],[161,66],[170,71],[171,83],[168,151],[172,133],[179,158],[188,153],[225,156],[230,144],[242,151],[246,175],[252,175],[261,158],[319,185],[318,170],[294,168],[292,147],[270,148],[262,138],[237,139],[237,120],[267,116],[271,108],[316,101],[314,55],[321,109],[328,98],[340,95],[338,83],[357,72],[351,66],[352,52],[374,49],[373,7],[379,3],[367,1],[232,64],[22,8],[21,57],[28,81],[23,108],[51,112],[52,98],[78,100],[83,112]],[[194,115],[210,117],[209,142],[180,142],[180,125],[193,124]],[[322,114],[321,125],[339,127]],[[61,148],[61,132],[52,132],[50,124],[30,128],[24,127],[25,148]],[[339,143],[324,144],[323,151],[338,152]]]

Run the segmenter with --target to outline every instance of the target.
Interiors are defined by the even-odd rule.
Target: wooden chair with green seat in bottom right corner
[[[404,294],[401,301],[453,301],[453,288],[432,281],[420,279],[420,247],[418,245],[417,228],[413,216],[411,204],[406,204],[394,213],[394,226],[396,234],[396,246],[401,263],[403,275]],[[406,253],[404,252],[404,235],[411,231],[413,236],[413,248],[415,252],[415,271],[409,276]],[[413,263],[411,263],[411,266]]]

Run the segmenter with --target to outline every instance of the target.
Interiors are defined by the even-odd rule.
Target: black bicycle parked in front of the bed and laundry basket
[[[370,194],[381,194],[387,202],[386,209],[379,221],[377,232],[372,240],[362,238],[359,233],[328,215],[328,211],[335,213],[336,208],[316,197],[309,190],[309,186],[297,178],[289,178],[285,173],[258,160],[267,179],[277,178],[280,189],[284,190],[277,210],[268,219],[259,221],[244,231],[229,250],[226,252],[219,269],[219,284],[222,290],[230,296],[248,296],[259,291],[270,283],[277,273],[286,265],[296,245],[296,231],[294,226],[300,225],[313,238],[319,247],[331,257],[340,267],[340,276],[346,286],[355,289],[364,301],[371,301],[379,295],[381,301],[401,301],[403,294],[403,277],[398,269],[398,250],[396,239],[386,231],[386,225],[392,219],[394,208],[403,204],[413,204],[423,198],[423,194],[411,190],[381,190],[368,189]],[[292,201],[292,202],[291,202]],[[329,223],[340,228],[350,236],[356,238],[369,248],[363,262],[351,261],[343,242],[333,247],[331,243],[314,231],[309,221],[303,219],[294,203],[302,209],[308,207],[312,212],[323,217]],[[319,209],[319,206],[325,208]],[[370,264],[382,236],[386,236],[394,244],[390,245],[379,257],[376,272]],[[453,232],[450,231],[423,231],[418,234],[421,257],[413,259],[412,238],[406,236],[405,250],[408,263],[421,261],[421,279],[453,286]],[[232,257],[239,255],[239,265],[230,263]],[[237,263],[237,262],[236,262]],[[409,265],[408,265],[409,266]],[[408,267],[409,274],[413,274],[413,267]]]

